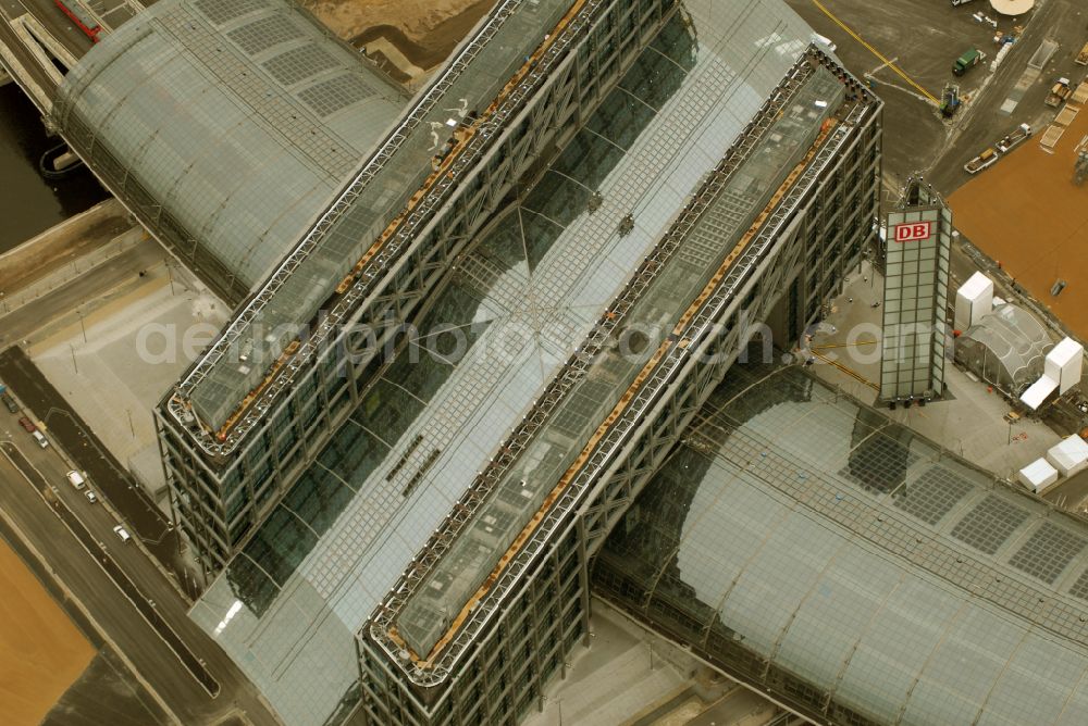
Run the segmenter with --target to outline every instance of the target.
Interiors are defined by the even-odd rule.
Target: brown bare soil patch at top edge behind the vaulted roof
[[[441,63],[495,0],[314,0],[307,7],[355,46],[385,38],[410,63]]]

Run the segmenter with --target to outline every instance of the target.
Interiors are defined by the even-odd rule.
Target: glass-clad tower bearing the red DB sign
[[[888,214],[880,400],[925,404],[944,392],[952,213],[911,177]]]

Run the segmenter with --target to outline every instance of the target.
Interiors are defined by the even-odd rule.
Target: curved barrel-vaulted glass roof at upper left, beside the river
[[[289,0],[160,0],[95,46],[59,93],[65,135],[232,301],[407,104]]]

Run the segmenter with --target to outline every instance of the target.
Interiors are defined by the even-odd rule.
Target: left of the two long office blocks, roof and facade
[[[347,422],[387,362],[375,351],[663,22],[660,0],[622,20],[609,7],[498,3],[168,393],[168,483],[209,571]]]

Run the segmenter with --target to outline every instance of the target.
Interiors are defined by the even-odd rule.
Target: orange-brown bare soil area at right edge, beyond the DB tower
[[[1074,147],[1088,134],[1088,108],[1050,154],[1046,129],[949,198],[953,222],[1041,304],[1088,338],[1088,184],[1073,184]],[[1050,295],[1058,278],[1067,283]]]

